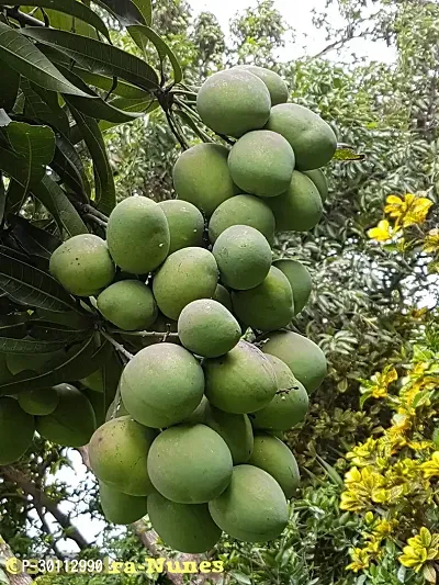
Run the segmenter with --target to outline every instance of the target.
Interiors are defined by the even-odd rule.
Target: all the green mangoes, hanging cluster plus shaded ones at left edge
[[[0,463],[22,454],[34,428],[59,445],[90,441],[106,518],[148,514],[183,552],[211,549],[223,530],[249,542],[282,532],[300,475],[279,437],[303,420],[326,374],[320,349],[284,329],[308,300],[309,273],[273,261],[271,246],[275,232],[319,221],[320,167],[336,137],[286,99],[267,69],[213,75],[198,111],[232,148],[189,148],[173,169],[178,199],[128,198],[111,213],[106,241],[78,235],[53,254],[53,275],[93,299],[116,346],[138,349],[106,421],[95,429],[90,393],[70,384],[0,401],[0,445],[8,425],[23,429]],[[104,383],[99,371],[81,381]]]

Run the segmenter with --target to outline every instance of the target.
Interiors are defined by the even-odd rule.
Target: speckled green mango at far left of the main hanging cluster
[[[78,296],[94,296],[114,278],[114,263],[105,241],[93,234],[74,236],[50,256],[50,272]]]

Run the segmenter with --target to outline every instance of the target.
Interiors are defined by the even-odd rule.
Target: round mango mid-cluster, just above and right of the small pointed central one
[[[214,244],[221,279],[240,291],[262,282],[271,266],[271,248],[260,232],[247,225],[227,227]]]

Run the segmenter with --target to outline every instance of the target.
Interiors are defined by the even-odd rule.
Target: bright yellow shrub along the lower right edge
[[[347,569],[368,573],[392,542],[403,566],[436,583],[439,348],[415,345],[410,363],[387,365],[361,383],[361,404],[383,401],[391,420],[346,455],[351,466],[340,508],[361,515],[367,526]]]

